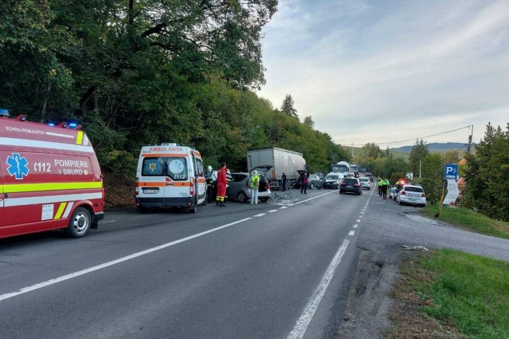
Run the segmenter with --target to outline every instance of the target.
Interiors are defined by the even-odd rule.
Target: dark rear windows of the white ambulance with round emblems
[[[186,158],[145,158],[143,176],[168,176],[173,180],[187,180]]]

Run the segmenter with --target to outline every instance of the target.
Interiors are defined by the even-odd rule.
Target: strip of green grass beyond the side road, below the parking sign
[[[427,205],[422,208],[422,214],[428,217],[434,217],[437,213],[438,207],[435,205]],[[509,224],[491,219],[485,216],[462,207],[447,207],[442,208],[442,215],[440,220],[443,220],[451,225],[459,226],[470,231],[486,234],[488,236],[509,239]]]

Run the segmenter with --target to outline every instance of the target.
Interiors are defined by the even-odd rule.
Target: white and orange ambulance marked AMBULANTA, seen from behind
[[[207,183],[202,156],[191,147],[173,143],[144,146],[136,169],[136,206],[180,207],[196,213],[206,205]]]

